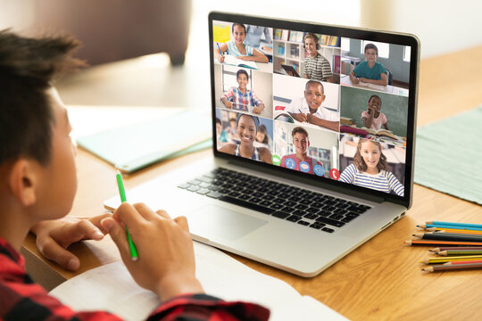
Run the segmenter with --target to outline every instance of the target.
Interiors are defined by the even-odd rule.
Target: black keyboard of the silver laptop
[[[335,231],[332,227],[345,226],[370,209],[230,169],[213,169],[178,187],[328,233]]]

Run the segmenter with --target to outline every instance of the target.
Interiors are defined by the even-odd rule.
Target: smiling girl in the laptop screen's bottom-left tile
[[[243,113],[238,113],[236,118],[237,136],[239,144],[226,144],[220,152],[241,156],[253,161],[263,161],[271,164],[271,152],[266,147],[254,147],[256,134],[260,128],[260,119]]]

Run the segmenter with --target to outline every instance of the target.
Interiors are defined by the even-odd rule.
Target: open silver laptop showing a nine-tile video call
[[[411,206],[419,40],[225,12],[211,12],[208,23],[212,157],[152,177],[128,200],[185,215],[195,241],[316,276]],[[229,41],[256,55],[255,42],[232,36],[246,25],[272,36],[272,62],[258,55],[258,70],[215,56]],[[319,39],[314,57],[303,47],[308,34]],[[286,75],[287,63],[302,78]],[[369,81],[378,86],[361,85]],[[295,120],[275,119],[279,110]],[[396,139],[345,126],[389,128]],[[113,195],[104,207],[119,204]]]

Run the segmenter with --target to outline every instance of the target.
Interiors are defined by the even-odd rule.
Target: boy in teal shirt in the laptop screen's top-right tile
[[[377,62],[378,48],[376,45],[365,45],[365,62],[360,62],[351,72],[350,79],[353,84],[361,81],[374,85],[386,86],[386,69],[380,62]]]

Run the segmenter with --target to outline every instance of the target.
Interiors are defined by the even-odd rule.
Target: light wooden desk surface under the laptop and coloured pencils
[[[482,65],[473,63],[481,56],[482,46],[478,46],[421,62],[419,126],[482,103],[479,76]],[[450,63],[453,61],[461,65],[459,70],[470,72],[453,79]],[[208,155],[208,151],[197,152],[141,170],[126,177],[126,188]],[[113,169],[81,150],[78,164],[79,191],[71,215],[99,214],[103,212],[104,199],[117,192],[112,182]],[[428,249],[407,247],[403,241],[411,239],[415,225],[426,220],[482,223],[482,207],[420,185],[414,186],[413,195],[411,210],[405,218],[340,259],[320,276],[305,279],[235,257],[251,268],[285,280],[302,294],[311,295],[353,320],[481,319],[482,309],[477,299],[482,297],[482,287],[477,282],[480,270],[425,274],[420,271],[418,261],[427,255]],[[117,250],[109,237],[99,243],[78,243],[72,251],[82,261],[79,273],[117,259]],[[31,235],[24,243],[23,254],[34,259],[40,257]],[[48,270],[60,279],[74,276],[45,260],[38,259],[38,263],[43,270],[47,264]]]

